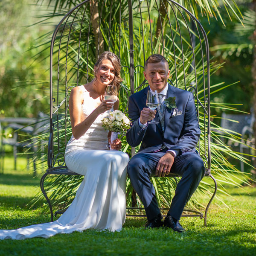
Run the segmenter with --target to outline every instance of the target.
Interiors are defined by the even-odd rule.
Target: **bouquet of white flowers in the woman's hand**
[[[119,110],[113,111],[110,117],[104,117],[102,119],[102,127],[105,130],[111,131],[111,143],[117,139],[118,134],[130,128],[130,123],[128,117]]]

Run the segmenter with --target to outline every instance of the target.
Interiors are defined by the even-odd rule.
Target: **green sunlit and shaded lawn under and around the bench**
[[[26,170],[26,159],[18,158],[13,171],[12,159],[6,158],[0,174],[0,229],[15,229],[50,220],[49,209],[39,202],[29,209],[26,204],[40,190],[40,177]],[[174,233],[163,228],[144,230],[145,218],[127,218],[121,232],[86,230],[58,234],[49,239],[0,241],[4,255],[256,255],[256,188],[227,187],[232,197],[209,209],[208,227],[200,218],[180,220],[187,232]]]

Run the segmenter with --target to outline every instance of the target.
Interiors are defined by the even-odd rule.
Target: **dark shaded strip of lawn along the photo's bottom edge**
[[[59,234],[49,239],[6,240],[1,243],[9,255],[254,255],[255,248],[234,243],[230,234],[177,234],[156,230],[123,230],[120,233],[96,232]],[[231,234],[232,236],[232,234]],[[250,242],[250,241],[248,241]],[[23,246],[21,246],[23,245]],[[19,254],[21,253],[21,254]],[[8,255],[6,254],[6,255]]]

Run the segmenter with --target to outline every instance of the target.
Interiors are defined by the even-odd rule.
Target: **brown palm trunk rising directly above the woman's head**
[[[100,32],[100,29],[99,29],[98,2],[96,4],[95,2],[96,0],[90,1],[90,11],[92,13],[91,26],[93,27],[93,35],[95,38],[96,58],[97,58],[98,57],[97,55],[100,55],[102,52],[104,52],[104,40],[102,37],[102,33]],[[99,47],[99,53],[98,53],[98,47]]]

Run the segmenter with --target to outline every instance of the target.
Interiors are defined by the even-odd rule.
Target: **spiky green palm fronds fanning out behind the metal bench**
[[[57,0],[55,3],[55,8],[53,12],[56,12],[57,6],[61,7],[68,7],[68,4],[75,4],[72,1],[64,1],[64,0]],[[118,1],[119,2],[119,1]],[[226,1],[223,1],[225,4]],[[219,16],[220,13],[218,12],[218,2],[215,0],[212,1],[199,1],[197,2],[198,5],[194,1],[183,1],[180,0],[179,3],[182,3],[185,7],[191,8],[189,6],[189,3],[192,4],[192,7],[195,9],[194,13],[197,14],[197,9],[195,7],[201,8],[201,11],[204,13],[204,15],[209,15],[209,17]],[[118,4],[118,3],[116,3]],[[228,5],[229,6],[229,5]],[[123,85],[119,91],[119,98],[120,98],[120,105],[119,109],[121,111],[125,111],[125,108],[127,106],[128,102],[128,96],[125,92],[125,87],[130,88],[130,73],[127,67],[130,65],[130,58],[129,58],[129,31],[128,31],[128,19],[127,15],[127,4],[124,3],[122,6],[123,12],[122,17],[119,17],[119,13],[113,13],[111,17],[111,33],[109,33],[109,18],[110,18],[110,12],[108,12],[108,8],[105,9],[105,13],[103,14],[105,17],[104,20],[102,20],[100,31],[102,33],[103,37],[103,43],[105,49],[110,49],[112,52],[116,52],[120,55],[120,59],[122,61],[122,78],[123,78]],[[139,6],[134,4],[134,8],[139,8]],[[153,1],[151,1],[150,8],[154,10]],[[117,9],[117,7],[116,7]],[[235,12],[234,9],[231,9],[232,12]],[[61,10],[58,11],[61,13]],[[148,13],[145,11],[142,12],[142,18],[145,21],[142,26],[140,26],[140,17],[137,17],[136,15],[134,17],[134,63],[136,63],[136,72],[134,73],[134,83],[135,83],[135,89],[138,90],[141,88],[141,86],[146,86],[146,84],[143,84],[144,76],[142,70],[140,70],[140,66],[144,65],[145,56],[148,56],[151,54],[152,50],[152,41],[154,41],[154,49],[153,52],[158,52],[158,49],[164,48],[166,57],[172,63],[173,65],[170,67],[171,70],[171,77],[172,81],[180,88],[185,88],[185,81],[183,79],[184,75],[186,77],[186,84],[190,84],[195,80],[195,72],[189,72],[189,69],[192,67],[193,69],[196,68],[196,74],[197,74],[197,81],[198,81],[198,99],[204,98],[204,92],[207,89],[204,89],[204,74],[207,73],[207,63],[204,63],[202,60],[202,55],[200,51],[200,44],[203,43],[203,40],[201,38],[196,38],[197,44],[194,46],[194,52],[195,52],[195,58],[197,60],[197,64],[194,67],[193,62],[193,54],[192,54],[192,44],[190,42],[190,39],[188,36],[183,35],[182,29],[187,29],[186,24],[182,22],[180,18],[179,21],[182,24],[181,31],[180,29],[175,26],[173,26],[172,32],[170,29],[165,30],[166,35],[171,35],[172,33],[174,36],[166,36],[164,41],[162,41],[159,38],[152,38],[151,41],[151,30],[156,30],[157,27],[157,17],[152,17],[151,20],[148,21]],[[137,15],[138,16],[138,15]],[[76,16],[77,20],[81,21],[82,17],[81,14],[77,14]],[[89,20],[90,13],[85,13],[85,20]],[[121,23],[119,23],[119,20],[121,20]],[[170,20],[171,23],[175,23],[175,19]],[[246,22],[245,22],[246,24]],[[119,27],[120,27],[120,33],[119,35]],[[70,38],[68,41],[68,35],[70,32],[70,29],[72,29],[70,33]],[[80,27],[76,24],[72,23],[72,21],[67,21],[65,26],[62,26],[62,33],[64,35],[60,50],[54,51],[54,58],[58,59],[58,56],[60,58],[60,65],[58,66],[58,61],[55,62],[54,66],[54,80],[56,81],[56,78],[59,76],[59,83],[67,84],[68,86],[76,85],[76,73],[77,70],[81,70],[79,74],[79,81],[78,84],[83,84],[85,81],[90,80],[93,77],[93,64],[96,59],[96,44],[94,41],[93,36],[91,35],[91,31],[89,30],[88,22],[84,23],[82,26],[82,35],[81,35],[81,48],[80,53],[78,51],[78,45],[77,42],[79,40],[79,29]],[[142,37],[142,29],[143,29],[143,37]],[[191,33],[193,33],[192,29],[189,29]],[[89,42],[87,42],[89,37]],[[60,34],[57,35],[57,38],[60,38]],[[181,48],[181,44],[178,43],[175,38],[181,38],[183,41],[183,50]],[[49,39],[48,39],[49,42]],[[118,43],[116,43],[118,42]],[[120,42],[120,43],[119,43]],[[175,50],[173,50],[175,49]],[[67,52],[66,52],[67,50]],[[77,66],[77,59],[79,58],[80,64],[79,67]],[[184,62],[183,62],[184,60]],[[176,64],[176,70],[175,65]],[[204,66],[202,65],[204,64]],[[210,71],[211,74],[215,73],[217,70],[221,68],[222,64],[218,64],[214,61],[211,61],[210,64]],[[67,70],[66,70],[67,68]],[[193,70],[192,69],[192,70]],[[66,73],[67,73],[67,79],[66,79]],[[185,74],[184,74],[185,73]],[[212,84],[211,85],[211,95],[223,90],[226,87],[233,86],[233,84],[225,85],[224,83],[219,84]],[[54,92],[56,93],[56,87],[54,87]],[[59,87],[59,96],[65,97],[65,87]],[[198,102],[195,102],[196,104]],[[57,102],[56,104],[59,104]],[[228,109],[230,111],[236,110],[234,105],[218,105],[218,104],[212,104],[212,109],[216,108],[222,108],[222,109]],[[62,112],[62,115],[65,116],[65,108],[64,106],[60,106],[58,108],[59,113]],[[68,117],[68,116],[67,116]],[[234,186],[241,186],[241,183],[248,183],[248,177],[249,175],[246,173],[239,173],[239,170],[231,164],[231,160],[239,160],[250,166],[249,161],[247,158],[242,155],[240,152],[236,152],[231,148],[230,146],[227,146],[224,143],[224,140],[230,140],[233,143],[241,144],[243,143],[241,141],[241,135],[232,133],[228,129],[222,129],[219,125],[215,123],[217,119],[221,118],[220,116],[214,116],[211,121],[211,127],[212,127],[212,147],[211,147],[211,154],[212,154],[212,173],[214,175],[217,175],[218,181],[220,184],[219,192],[221,192],[223,195],[227,195],[227,192],[225,190],[224,185],[225,184],[232,184]],[[205,127],[204,127],[204,111],[202,108],[199,108],[199,123],[201,126],[202,136],[200,139],[200,144],[198,145],[198,150],[201,152],[204,152],[205,147],[207,147],[207,141],[204,141],[204,133]],[[55,121],[55,125],[57,125]],[[64,119],[60,120],[58,122],[59,125],[59,134],[58,137],[54,138],[54,144],[60,144],[60,151],[65,151],[65,128],[64,128]],[[207,126],[207,122],[205,123]],[[67,137],[69,138],[71,136],[71,128],[70,126],[67,127],[66,131]],[[47,133],[41,134],[38,139],[40,140],[46,140],[48,137]],[[122,138],[122,145],[123,150],[131,155],[131,147],[126,143],[125,137]],[[136,151],[138,148],[136,148]],[[55,155],[58,155],[58,151],[55,151]],[[206,161],[205,157],[203,157],[203,160]],[[43,157],[37,157],[37,160],[39,162],[43,162]],[[59,156],[59,159],[56,159],[56,161],[62,160],[63,157],[61,155]],[[45,166],[46,168],[46,166]],[[240,174],[239,179],[237,179],[237,174]],[[46,181],[45,187],[47,188],[47,193],[50,195],[50,199],[53,204],[60,205],[61,207],[67,207],[72,199],[75,196],[76,190],[79,187],[79,184],[81,183],[83,177],[72,177],[72,176],[57,176],[57,177],[51,177],[48,178]],[[167,177],[167,178],[152,178],[152,182],[155,185],[157,199],[159,201],[159,204],[162,207],[168,207],[171,202],[171,198],[175,193],[175,187],[176,182],[173,178]],[[207,195],[208,197],[211,196],[211,193],[214,189],[214,184],[207,180],[207,178],[203,179],[198,187],[197,192],[195,195],[193,195],[192,199],[189,201],[189,205],[198,208],[201,207],[201,198],[203,195]],[[127,205],[132,205],[132,187],[129,180],[127,180]],[[168,193],[167,193],[168,192]],[[38,195],[32,202],[35,204],[36,201],[40,200],[42,198],[42,195]],[[221,196],[219,196],[219,200],[221,200]],[[139,200],[139,198],[136,198],[136,202],[138,206],[141,206],[142,203]]]

